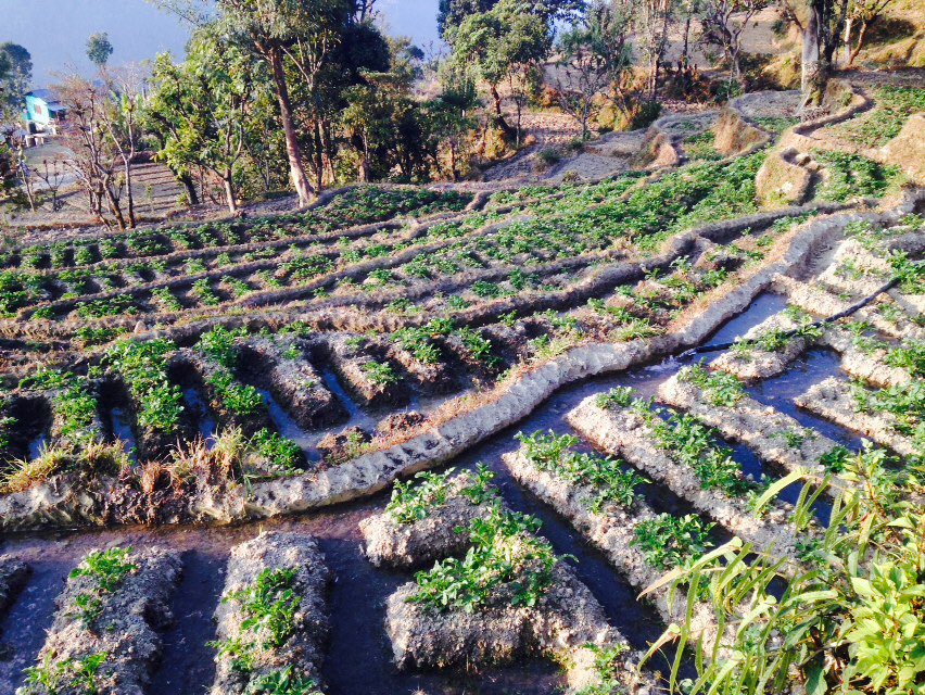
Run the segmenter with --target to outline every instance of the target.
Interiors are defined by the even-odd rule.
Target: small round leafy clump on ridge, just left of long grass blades
[[[682,567],[696,560],[712,545],[709,531],[714,526],[704,523],[693,514],[683,517],[660,514],[636,525],[633,545],[656,569]]]

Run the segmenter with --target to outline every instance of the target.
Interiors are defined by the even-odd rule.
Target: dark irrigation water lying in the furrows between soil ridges
[[[728,320],[710,340],[732,340],[769,316],[782,311],[786,301],[776,294],[762,294],[739,316]],[[707,361],[718,354],[706,355]],[[699,357],[698,357],[699,358]],[[636,367],[628,371],[590,379],[556,392],[528,418],[472,447],[449,463],[457,470],[473,468],[482,462],[495,472],[495,482],[505,503],[512,509],[528,511],[543,521],[541,534],[555,551],[572,556],[579,579],[605,607],[611,623],[635,648],[646,648],[663,628],[654,609],[636,601],[637,592],[606,561],[604,556],[583,541],[569,523],[548,506],[520,488],[502,465],[502,455],[515,451],[518,431],[554,430],[569,432],[566,414],[591,394],[618,386],[633,387],[644,396],[652,396],[658,386],[683,366],[676,358],[661,364]],[[782,375],[749,388],[756,400],[797,418],[827,437],[857,448],[860,438],[807,415],[796,408],[793,397],[823,379],[838,372],[838,358],[828,352],[810,350]],[[332,375],[326,375],[330,381]],[[339,389],[338,395],[349,399]],[[188,393],[190,401],[195,395]],[[368,414],[354,403],[344,404],[352,419],[347,426],[368,419]],[[294,424],[287,422],[288,433]],[[201,424],[201,431],[214,427]],[[303,441],[306,441],[303,439]],[[760,473],[762,464],[744,446],[730,444],[735,458],[746,472]],[[647,501],[658,511],[692,511],[690,506],[661,485],[648,485]],[[795,490],[783,497],[796,498]],[[33,576],[24,592],[0,622],[4,644],[0,652],[0,692],[12,693],[22,684],[22,671],[31,665],[51,626],[54,599],[68,572],[90,549],[119,544],[142,548],[150,545],[169,547],[182,553],[183,574],[173,598],[174,622],[164,637],[161,666],[150,693],[190,695],[204,693],[212,683],[215,667],[208,642],[215,636],[213,612],[223,590],[230,548],[256,536],[262,530],[295,530],[316,538],[334,582],[329,597],[331,633],[321,674],[331,695],[398,695],[425,692],[455,695],[521,693],[548,694],[565,685],[559,669],[549,661],[519,662],[506,668],[487,668],[479,672],[400,672],[392,664],[391,647],[383,629],[384,602],[407,581],[408,573],[378,569],[360,552],[357,525],[381,511],[388,492],[357,503],[350,503],[303,516],[259,521],[238,527],[204,528],[131,528],[93,532],[54,532],[5,539],[0,553],[12,553],[29,563]],[[717,538],[722,540],[721,536]],[[656,665],[657,667],[659,665]],[[664,665],[661,665],[662,667]]]

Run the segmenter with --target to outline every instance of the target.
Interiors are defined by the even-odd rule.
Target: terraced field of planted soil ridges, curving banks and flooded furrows
[[[0,691],[655,693],[688,616],[721,654],[666,572],[785,581],[850,462],[922,492],[925,193],[797,149],[885,94],[662,119],[596,182],[7,253]]]

